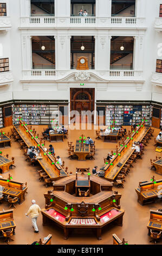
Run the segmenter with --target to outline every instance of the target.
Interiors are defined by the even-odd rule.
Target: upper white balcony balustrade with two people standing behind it
[[[146,29],[146,23],[145,18],[138,17],[21,17],[21,29],[54,27]]]

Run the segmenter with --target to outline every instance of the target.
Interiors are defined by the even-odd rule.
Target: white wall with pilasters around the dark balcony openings
[[[5,2],[5,1],[4,1]],[[80,81],[74,79],[69,82],[67,76],[70,71],[70,36],[71,35],[94,35],[95,36],[95,69],[92,71],[96,78],[92,83],[85,81],[85,87],[94,87],[96,100],[151,100],[161,102],[161,89],[153,89],[151,83],[152,72],[155,71],[157,58],[157,44],[162,42],[161,33],[154,29],[155,17],[159,16],[160,0],[150,1],[137,0],[137,17],[146,18],[147,29],[139,29],[138,26],[132,29],[121,29],[116,25],[114,29],[108,27],[86,28],[83,27],[49,27],[49,28],[24,28],[20,29],[21,17],[28,17],[30,14],[29,0],[9,0],[11,29],[7,34],[0,32],[0,44],[3,45],[3,57],[9,57],[10,67],[14,76],[14,83],[5,89],[0,89],[0,101],[14,99],[32,100],[67,100],[70,99],[69,88],[80,87]],[[70,0],[55,0],[55,16],[62,22],[64,17],[70,17]],[[111,17],[111,1],[96,0],[96,17]],[[162,18],[161,18],[162,19]],[[32,54],[32,35],[53,35],[55,36],[56,48],[56,81],[46,80],[35,81],[28,79],[22,81],[22,70],[30,74]],[[108,77],[110,40],[112,35],[135,36],[134,43],[134,69],[143,71],[142,79],[127,82],[114,81]],[[61,78],[63,77],[63,78]],[[91,78],[92,79],[92,78]],[[103,84],[104,82],[104,84]],[[0,81],[1,85],[1,81]],[[1,86],[0,86],[1,87]],[[154,92],[155,90],[155,92]],[[152,93],[153,91],[153,93]]]

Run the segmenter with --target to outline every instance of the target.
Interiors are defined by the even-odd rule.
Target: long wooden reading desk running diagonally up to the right
[[[145,120],[138,127],[137,130],[134,130],[131,134],[131,138],[126,139],[125,146],[121,145],[118,150],[118,154],[115,155],[111,163],[105,164],[103,167],[103,172],[105,172],[105,178],[109,181],[114,181],[116,176],[120,173],[120,170],[124,164],[128,161],[129,157],[134,153],[134,148],[132,145],[134,142],[142,141],[147,132],[151,129],[151,126],[145,125]]]

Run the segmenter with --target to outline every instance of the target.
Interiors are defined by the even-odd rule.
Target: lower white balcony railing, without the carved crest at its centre
[[[28,80],[62,80],[68,75],[72,75],[79,73],[81,70],[44,70],[44,69],[35,69],[35,70],[23,70],[22,71],[22,81]],[[96,70],[82,70],[82,72],[90,74],[90,76],[98,76],[101,77],[101,71]],[[88,75],[89,76],[89,75]],[[102,71],[101,80],[103,81],[141,81],[144,82],[143,72],[137,70],[107,70]],[[75,81],[75,79],[74,79]]]

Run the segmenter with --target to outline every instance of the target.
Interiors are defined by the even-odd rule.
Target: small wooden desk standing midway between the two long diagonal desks
[[[77,155],[79,161],[86,161],[86,156],[89,155],[90,153],[90,145],[79,142],[79,140],[76,140],[75,143],[75,149],[74,149],[74,154]]]

